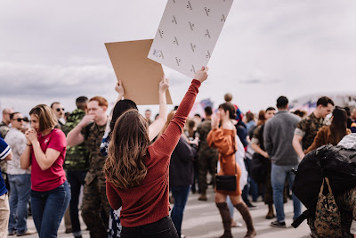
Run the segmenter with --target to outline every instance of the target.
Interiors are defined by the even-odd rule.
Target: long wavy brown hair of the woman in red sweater
[[[139,186],[147,175],[145,157],[150,146],[149,124],[139,111],[125,111],[115,123],[103,168],[107,180],[119,188]]]

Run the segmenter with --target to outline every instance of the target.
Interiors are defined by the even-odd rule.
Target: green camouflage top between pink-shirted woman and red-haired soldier
[[[67,135],[77,124],[85,117],[85,111],[76,109],[67,119],[65,125],[61,127]],[[85,142],[76,146],[68,146],[66,160],[64,160],[64,168],[66,170],[87,170],[89,169],[89,153]]]

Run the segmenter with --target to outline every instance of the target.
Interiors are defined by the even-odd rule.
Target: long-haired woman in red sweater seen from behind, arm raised
[[[113,209],[122,207],[121,237],[178,237],[169,217],[169,162],[207,68],[198,70],[166,132],[150,144],[148,122],[137,110],[117,119],[104,173]],[[159,236],[158,236],[159,235]]]

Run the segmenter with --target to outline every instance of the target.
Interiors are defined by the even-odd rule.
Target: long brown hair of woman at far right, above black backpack
[[[347,113],[343,108],[336,106],[333,111],[333,121],[330,125],[331,135],[333,136],[333,145],[338,144],[344,135],[346,135]]]

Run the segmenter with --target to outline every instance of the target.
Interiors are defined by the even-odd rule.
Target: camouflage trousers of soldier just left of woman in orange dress
[[[212,176],[213,185],[215,185],[215,173],[219,152],[217,150],[200,150],[198,152],[198,158],[199,190],[201,193],[206,193],[207,171],[209,171],[210,175]]]

